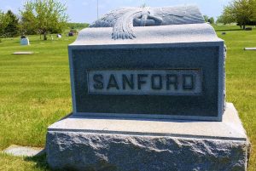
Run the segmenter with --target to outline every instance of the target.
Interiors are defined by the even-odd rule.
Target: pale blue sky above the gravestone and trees
[[[97,18],[97,0],[59,0],[67,4],[67,13],[71,22],[90,23]],[[150,7],[172,6],[179,4],[196,4],[202,14],[217,17],[221,14],[224,5],[231,0],[98,0],[99,15],[106,14],[111,9],[118,7],[139,7],[146,3]],[[26,0],[0,0],[0,9],[8,9],[18,13]]]

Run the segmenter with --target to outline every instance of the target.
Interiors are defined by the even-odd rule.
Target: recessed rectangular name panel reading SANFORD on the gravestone
[[[200,70],[88,71],[92,94],[201,94]]]

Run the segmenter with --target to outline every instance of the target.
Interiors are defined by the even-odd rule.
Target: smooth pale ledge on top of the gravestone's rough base
[[[48,131],[247,140],[238,113],[230,103],[227,104],[227,110],[224,112],[223,122],[69,116],[49,126]]]

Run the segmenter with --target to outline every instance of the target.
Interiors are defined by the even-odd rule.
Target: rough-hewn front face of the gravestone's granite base
[[[48,134],[52,168],[119,171],[246,170],[242,141],[117,134]]]

